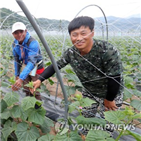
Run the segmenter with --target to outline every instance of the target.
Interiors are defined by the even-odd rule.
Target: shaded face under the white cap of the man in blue
[[[27,30],[16,30],[13,33],[13,36],[16,40],[18,40],[20,43],[22,43],[25,39],[26,32],[27,32]]]

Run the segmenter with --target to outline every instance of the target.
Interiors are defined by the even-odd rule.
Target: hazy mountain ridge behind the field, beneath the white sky
[[[5,29],[7,27],[11,27],[14,22],[21,21],[25,24],[29,25],[29,28],[32,28],[28,19],[24,16],[17,14],[14,11],[11,11],[7,8],[0,8],[1,19],[0,22],[3,23],[1,25],[1,29]],[[13,13],[13,14],[12,14]],[[11,15],[10,17],[8,17]],[[8,17],[8,18],[7,18]],[[7,18],[7,20],[5,20]],[[104,17],[96,17],[95,23],[97,28],[101,28],[101,25],[105,26]],[[5,20],[5,22],[4,22]],[[139,27],[141,28],[141,16],[140,14],[131,15],[126,18],[115,17],[115,16],[107,16],[106,17],[108,29],[117,31],[136,31]],[[56,19],[48,19],[48,18],[37,18],[37,23],[41,26],[42,29],[48,30],[67,30],[67,26],[70,21],[68,20],[56,20]]]

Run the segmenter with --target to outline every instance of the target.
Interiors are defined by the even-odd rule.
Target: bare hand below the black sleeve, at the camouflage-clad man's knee
[[[105,106],[105,111],[109,111],[109,110],[115,111],[116,109],[118,109],[114,100],[109,101],[107,99],[104,99],[104,106]]]

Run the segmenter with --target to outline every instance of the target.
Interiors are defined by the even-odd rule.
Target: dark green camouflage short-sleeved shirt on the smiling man
[[[80,55],[75,46],[67,49],[57,64],[59,68],[70,64],[84,88],[100,98],[105,98],[107,94],[107,76],[122,76],[122,63],[118,50],[102,40],[94,39],[91,51],[84,56]],[[118,95],[121,91],[120,86]]]

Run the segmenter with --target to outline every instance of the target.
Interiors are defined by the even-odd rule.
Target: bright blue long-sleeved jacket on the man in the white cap
[[[12,44],[13,55],[14,55],[14,67],[15,76],[19,76],[20,79],[25,80],[29,73],[33,70],[36,63],[42,60],[40,46],[37,40],[32,40],[28,45],[28,40],[30,39],[29,32],[26,33],[26,37],[23,43],[20,45],[18,40],[14,40]],[[25,54],[24,58],[21,56],[21,47],[23,47],[23,52]],[[23,71],[20,73],[22,62],[26,65]]]

